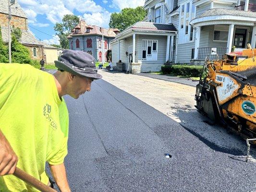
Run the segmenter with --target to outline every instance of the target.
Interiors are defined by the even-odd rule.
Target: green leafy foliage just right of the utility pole
[[[31,64],[29,51],[21,43],[18,42],[15,36],[12,36],[12,62],[13,63],[28,63]]]

